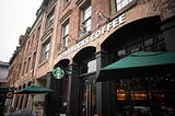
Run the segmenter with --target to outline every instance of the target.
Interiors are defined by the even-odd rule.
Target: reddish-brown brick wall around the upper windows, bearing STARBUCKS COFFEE
[[[54,79],[52,79],[52,76],[50,74],[55,66],[60,65],[66,68],[70,68],[72,66],[74,67],[74,62],[75,61],[79,62],[78,60],[79,57],[80,57],[80,60],[81,60],[81,57],[82,59],[85,58],[84,56],[81,56],[81,55],[85,55],[85,54],[82,54],[83,51],[86,51],[88,54],[91,55],[91,51],[89,53],[86,48],[88,49],[94,48],[97,57],[100,54],[103,53],[104,49],[105,50],[107,49],[107,46],[112,48],[113,47],[117,48],[118,47],[117,45],[120,45],[120,42],[129,43],[129,40],[127,42],[125,37],[130,37],[130,36],[125,35],[124,33],[126,34],[128,33],[131,36],[137,37],[137,31],[132,30],[135,27],[136,28],[138,27],[138,30],[140,30],[139,31],[140,35],[138,34],[139,37],[142,37],[142,36],[147,37],[147,35],[149,34],[151,36],[153,34],[159,35],[161,33],[160,35],[163,35],[165,39],[166,50],[175,51],[175,47],[173,46],[175,43],[173,40],[173,37],[175,36],[175,34],[173,34],[173,31],[175,28],[174,27],[175,25],[174,23],[175,1],[174,0],[132,0],[130,3],[128,3],[125,8],[122,8],[119,11],[116,10],[115,0],[110,0],[110,1],[109,0],[103,0],[103,1],[102,0],[70,0],[69,2],[68,1],[69,0],[44,0],[43,1],[39,10],[37,11],[36,21],[34,22],[32,27],[27,28],[26,33],[20,37],[19,39],[20,46],[16,48],[15,53],[13,54],[10,60],[11,66],[10,66],[10,72],[8,77],[9,86],[12,86],[14,83],[14,86],[16,89],[20,89],[24,84],[28,84],[33,80],[35,80],[36,84],[40,84],[47,88],[52,88],[58,91],[59,90],[57,89],[59,86],[58,83],[60,83],[61,81],[55,80],[55,82],[52,82],[51,80]],[[89,3],[92,5],[91,31],[89,33],[85,33],[84,35],[81,35],[82,10]],[[51,16],[54,19],[50,20],[51,18],[50,19],[48,18],[52,9],[55,9],[54,14]],[[48,22],[48,20],[50,21]],[[69,34],[68,34],[69,43],[67,47],[62,47],[62,35],[63,35],[62,26],[68,22],[69,22]],[[151,25],[149,24],[149,22],[150,24],[153,24],[153,25],[155,24],[154,26],[152,26],[152,28],[155,28],[153,30],[153,32],[150,31]],[[46,25],[47,23],[49,23],[49,25]],[[144,31],[144,27],[145,27],[145,31],[148,32]],[[124,31],[124,32],[120,32],[120,31]],[[122,37],[121,35],[125,37]],[[122,39],[117,40],[119,39],[119,37]],[[113,44],[116,46],[114,45],[110,46],[107,44],[107,43],[110,43],[108,39],[112,39],[112,38],[114,42]],[[48,57],[45,61],[40,62],[40,58],[43,56],[43,47],[48,39],[49,39]],[[85,56],[89,56],[89,55],[85,55]],[[100,61],[103,59],[100,58],[97,60]],[[109,62],[106,61],[102,63],[104,63],[105,66],[105,63],[109,63]],[[98,69],[96,69],[95,76],[93,76],[94,78],[97,77],[96,73],[98,72],[100,68],[103,66],[102,63],[96,66]],[[77,76],[77,78],[78,77],[80,76]],[[71,82],[79,83],[69,79],[69,83]],[[54,83],[57,83],[57,85],[55,85]],[[104,89],[105,85],[103,84],[100,86],[101,89]],[[69,89],[67,90],[69,90],[68,94],[71,96],[70,90],[73,90],[73,89],[69,86]],[[79,90],[73,90],[73,91],[79,93]],[[107,96],[104,96],[104,94],[101,92],[97,92],[97,94],[102,95],[102,100],[104,100],[104,97],[107,97]],[[54,95],[52,96],[50,95],[50,97],[54,97]],[[80,96],[78,95],[78,97]],[[49,98],[49,96],[46,97],[46,100],[47,98]],[[73,113],[71,116],[79,116],[79,115],[81,116],[81,113],[78,113],[80,112],[80,104],[72,106],[73,104],[72,100],[71,98],[68,98],[68,100],[69,101],[65,103],[68,106],[67,114]],[[60,101],[58,100],[57,102],[60,103]],[[63,104],[63,103],[60,103],[60,104]],[[102,103],[102,101],[98,101],[96,106],[102,104],[104,103]],[[13,105],[16,106],[16,103]],[[70,107],[73,107],[75,111],[71,111]],[[19,106],[18,108],[22,108],[22,106]],[[114,112],[110,109],[108,111],[107,109],[103,111],[103,109],[104,107],[97,107],[96,115],[102,116],[104,112],[105,114],[103,116],[107,116],[107,112]],[[48,109],[47,113],[49,113],[51,109]],[[57,112],[57,109],[55,109],[54,113],[55,112]],[[89,114],[88,116],[92,116],[92,115]]]

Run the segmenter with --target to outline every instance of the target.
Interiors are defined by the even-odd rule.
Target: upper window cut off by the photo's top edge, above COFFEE
[[[125,8],[127,4],[129,4],[131,1],[133,0],[116,0],[116,8],[117,11],[121,10],[122,8]]]

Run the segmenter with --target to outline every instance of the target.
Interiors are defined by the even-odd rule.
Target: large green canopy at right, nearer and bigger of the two
[[[96,82],[175,72],[175,53],[138,51],[100,70]]]

